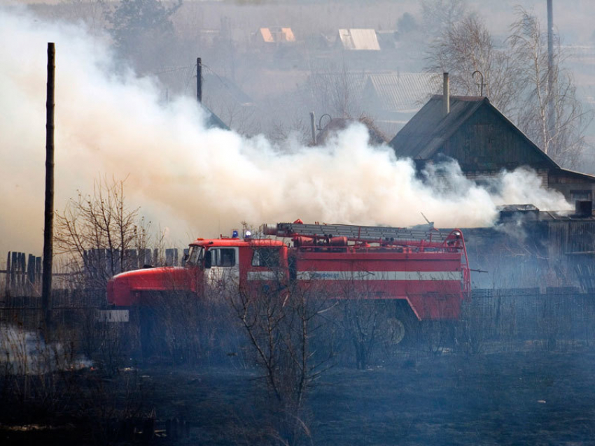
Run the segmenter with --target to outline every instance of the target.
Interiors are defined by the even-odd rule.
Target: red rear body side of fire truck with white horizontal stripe
[[[327,298],[403,299],[419,319],[456,319],[463,300],[457,252],[302,252],[297,280]]]

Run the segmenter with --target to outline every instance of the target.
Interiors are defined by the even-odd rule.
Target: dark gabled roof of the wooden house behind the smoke
[[[488,106],[539,152],[546,164],[559,168],[558,164],[538,148],[531,139],[520,131],[485,96],[450,96],[450,113],[444,115],[442,95],[436,94],[395,135],[390,145],[400,157],[416,160],[431,159],[437,150],[482,106]]]

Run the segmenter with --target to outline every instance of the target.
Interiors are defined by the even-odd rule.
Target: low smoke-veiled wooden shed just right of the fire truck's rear
[[[494,226],[461,228],[472,289],[514,289],[519,296],[595,292],[595,217],[538,210],[500,212]],[[557,289],[554,289],[557,288]],[[574,288],[578,287],[578,288]],[[512,291],[512,290],[511,290]]]

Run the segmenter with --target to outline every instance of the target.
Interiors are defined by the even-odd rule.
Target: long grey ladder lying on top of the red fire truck
[[[429,225],[426,228],[392,228],[388,226],[358,226],[354,224],[277,223],[276,226],[265,224],[263,232],[269,236],[346,237],[347,240],[351,241],[372,243],[421,240],[426,240],[430,243],[443,243],[450,235],[449,233],[441,233]]]

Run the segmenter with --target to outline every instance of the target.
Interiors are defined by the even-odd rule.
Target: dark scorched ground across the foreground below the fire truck
[[[143,383],[158,432],[165,419],[190,424],[177,442],[148,443],[266,443],[266,400],[253,368],[155,366],[126,373]],[[595,352],[401,352],[365,371],[336,367],[311,389],[304,422],[315,445],[595,445]],[[4,426],[0,444],[141,442],[98,441],[89,426],[66,426],[68,433]]]

